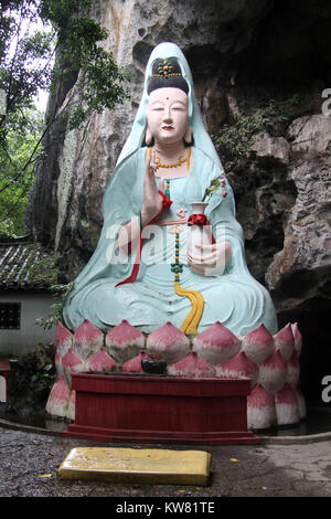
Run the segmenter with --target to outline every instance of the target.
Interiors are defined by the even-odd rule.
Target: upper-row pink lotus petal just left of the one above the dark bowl
[[[139,353],[145,347],[145,337],[124,319],[106,335],[106,347],[111,357],[122,363]]]

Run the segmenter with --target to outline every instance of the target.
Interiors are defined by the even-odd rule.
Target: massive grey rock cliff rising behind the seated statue
[[[249,269],[270,290],[280,321],[308,313],[319,327],[331,298],[331,116],[322,112],[331,87],[330,2],[209,0],[202,9],[200,0],[95,0],[93,9],[109,31],[108,50],[131,72],[131,97],[93,116],[87,131],[52,129],[29,208],[35,237],[61,253],[67,280],[86,264],[147,60],[156,44],[172,41],[191,65],[212,135],[270,98],[299,95],[287,121],[255,139],[234,190]],[[57,89],[49,110],[75,81]]]

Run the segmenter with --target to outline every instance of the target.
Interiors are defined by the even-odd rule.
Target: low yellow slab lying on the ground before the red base
[[[209,485],[211,454],[159,448],[75,447],[57,470],[60,479]]]

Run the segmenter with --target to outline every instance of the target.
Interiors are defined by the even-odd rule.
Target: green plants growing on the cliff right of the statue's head
[[[270,99],[256,113],[243,115],[233,125],[222,126],[213,140],[228,178],[234,177],[241,162],[248,158],[256,137],[289,121],[288,113],[298,100],[297,94],[287,100]]]

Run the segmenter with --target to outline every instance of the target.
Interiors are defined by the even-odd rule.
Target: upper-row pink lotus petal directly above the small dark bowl
[[[146,348],[152,358],[173,364],[189,353],[190,340],[172,322],[168,321],[148,336]]]

